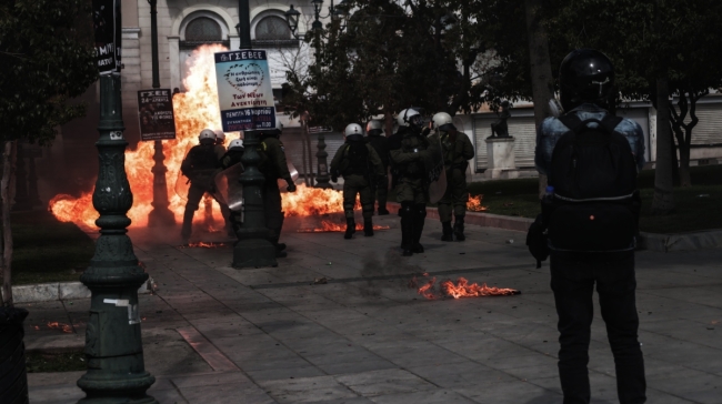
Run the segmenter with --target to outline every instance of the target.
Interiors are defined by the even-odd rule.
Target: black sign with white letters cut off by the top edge
[[[100,74],[120,72],[120,0],[92,0],[96,57]]]

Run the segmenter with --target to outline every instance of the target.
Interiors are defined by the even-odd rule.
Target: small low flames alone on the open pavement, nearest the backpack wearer
[[[413,276],[409,282],[409,287],[415,289],[420,295],[429,300],[443,297],[510,296],[521,293],[514,289],[487,286],[485,283],[481,285],[475,282],[469,284],[469,280],[463,276],[460,276],[455,283],[451,280],[437,283],[437,277],[429,279],[428,273],[424,273],[422,276],[425,279],[421,281],[423,285],[419,286],[419,280],[417,276]]]

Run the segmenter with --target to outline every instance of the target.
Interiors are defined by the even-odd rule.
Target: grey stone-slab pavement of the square
[[[158,283],[140,299],[146,366],[158,378],[150,394],[202,404],[561,403],[548,266],[534,269],[523,233],[468,226],[465,242],[443,243],[430,220],[427,253],[402,257],[398,218],[377,222],[393,228],[351,241],[285,233],[278,267],[240,271],[230,248],[181,249],[132,231]],[[722,251],[636,259],[649,403],[722,403]],[[408,287],[423,272],[522,294],[425,300]],[[24,306],[29,349],[84,342],[88,300]],[[53,321],[69,332],[46,325]],[[616,403],[599,309],[590,356],[592,402]],[[31,374],[31,403],[76,402],[81,374]]]

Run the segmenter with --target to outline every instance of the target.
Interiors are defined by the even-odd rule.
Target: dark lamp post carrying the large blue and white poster
[[[240,49],[252,49],[248,0],[238,1],[238,16],[235,29],[241,40]],[[258,169],[261,156],[257,149],[260,143],[258,130],[243,131],[245,151],[241,163],[245,169],[238,180],[243,185],[243,226],[235,232],[238,243],[233,248],[233,267],[237,269],[278,265],[277,249],[268,240],[270,233],[263,213],[262,191],[265,179]]]

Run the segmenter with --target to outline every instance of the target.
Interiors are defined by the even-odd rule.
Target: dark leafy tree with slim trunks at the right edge
[[[713,28],[722,12],[714,0],[551,0],[550,31],[570,48],[605,52],[618,71],[621,98],[650,100],[658,110],[654,213],[674,210],[672,132],[680,150],[680,176],[689,185],[690,144],[696,119],[685,108],[722,80],[722,38]],[[678,94],[680,112],[670,107]],[[682,130],[684,133],[682,133]]]

